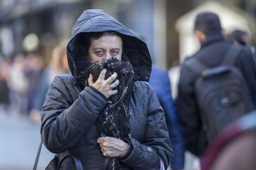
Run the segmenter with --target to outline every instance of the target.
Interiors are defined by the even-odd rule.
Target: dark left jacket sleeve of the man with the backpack
[[[185,147],[191,153],[199,155],[200,152],[197,146],[200,138],[200,118],[194,95],[194,79],[196,79],[196,76],[191,73],[191,70],[185,66],[181,68],[176,106],[184,135]]]

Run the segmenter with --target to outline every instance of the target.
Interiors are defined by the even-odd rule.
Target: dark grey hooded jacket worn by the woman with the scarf
[[[131,169],[160,169],[160,158],[167,169],[173,150],[163,110],[148,83],[151,59],[147,45],[103,10],[86,10],[72,29],[68,43],[68,61],[71,75],[59,75],[52,81],[41,114],[41,139],[59,158],[72,155],[78,158],[83,169],[105,169],[108,157],[101,153],[96,142],[100,133],[94,124],[107,98],[92,87],[82,89],[76,84],[75,58],[81,49],[80,33],[115,30],[125,35],[123,48],[135,70],[135,90],[131,97],[130,155],[119,160]],[[83,56],[84,57],[84,56]],[[86,58],[84,58],[86,60]],[[143,81],[140,81],[143,80]],[[73,169],[71,160],[61,169]],[[72,168],[70,168],[71,166]]]

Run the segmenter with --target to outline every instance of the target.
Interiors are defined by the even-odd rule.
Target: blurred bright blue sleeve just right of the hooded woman
[[[172,98],[172,92],[170,91],[170,80],[167,72],[163,73],[161,80],[162,91],[160,95],[157,95],[157,97],[159,98],[159,102],[164,110],[164,116],[166,118],[166,123],[169,130],[170,142],[172,142],[173,151],[175,153],[171,162],[171,168],[183,169],[185,159],[184,140],[176,112],[176,105]]]

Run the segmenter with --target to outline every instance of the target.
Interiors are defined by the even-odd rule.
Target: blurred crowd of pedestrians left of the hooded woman
[[[66,41],[52,51],[50,61],[36,52],[18,53],[0,62],[0,104],[5,112],[40,121],[40,110],[48,86],[58,74],[69,74]]]

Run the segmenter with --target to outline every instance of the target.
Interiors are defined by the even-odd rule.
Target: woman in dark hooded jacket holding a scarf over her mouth
[[[67,54],[72,75],[54,78],[41,111],[41,140],[63,161],[59,169],[76,169],[77,161],[92,170],[167,169],[173,150],[163,109],[145,82],[147,45],[105,11],[86,10]]]

